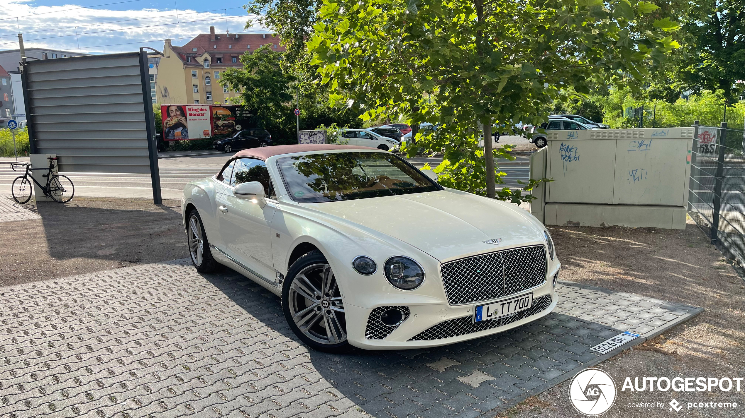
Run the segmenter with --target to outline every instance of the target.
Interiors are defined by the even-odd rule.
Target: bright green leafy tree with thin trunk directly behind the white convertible
[[[491,141],[481,148],[479,138],[495,123],[541,123],[539,111],[563,100],[568,86],[579,94],[593,84],[640,86],[678,46],[669,18],[653,30],[638,22],[656,8],[629,0],[324,0],[308,50],[334,91],[332,105],[360,106],[368,119],[439,124],[437,135],[420,133],[405,151],[444,152],[436,172],[495,197],[494,158],[507,149]]]

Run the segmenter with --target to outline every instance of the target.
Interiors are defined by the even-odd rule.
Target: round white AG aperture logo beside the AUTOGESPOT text
[[[571,405],[591,417],[605,414],[615,402],[615,395],[615,382],[600,369],[582,370],[569,384]]]

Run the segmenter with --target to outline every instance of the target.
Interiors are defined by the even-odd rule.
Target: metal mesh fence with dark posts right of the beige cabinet
[[[688,214],[745,266],[745,135],[726,126],[694,126]]]

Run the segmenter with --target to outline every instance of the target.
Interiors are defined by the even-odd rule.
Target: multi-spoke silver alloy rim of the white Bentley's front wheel
[[[331,266],[313,264],[302,269],[289,289],[289,308],[300,331],[319,344],[346,341],[346,317]]]

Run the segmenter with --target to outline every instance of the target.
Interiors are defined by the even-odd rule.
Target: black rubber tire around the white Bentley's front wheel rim
[[[329,262],[326,261],[326,257],[323,256],[323,253],[321,253],[318,250],[310,251],[306,254],[303,254],[300,256],[297,260],[295,260],[294,263],[292,263],[292,266],[290,266],[290,270],[288,271],[287,277],[285,278],[285,282],[282,283],[282,312],[285,313],[285,319],[288,321],[288,324],[290,324],[290,328],[292,331],[297,335],[297,338],[299,338],[305,345],[308,345],[308,347],[311,347],[314,350],[323,351],[324,353],[335,353],[335,354],[343,354],[348,353],[350,350],[353,350],[354,347],[352,347],[352,344],[349,344],[349,341],[346,339],[346,316],[340,312],[343,312],[343,302],[341,302],[340,298],[340,292],[338,289],[338,286],[335,286],[335,288],[332,290],[331,294],[328,293],[325,295],[326,297],[323,298],[324,295],[317,295],[316,300],[312,300],[312,303],[317,304],[317,311],[315,309],[311,309],[310,313],[308,315],[305,315],[303,318],[300,318],[300,321],[304,320],[305,318],[309,318],[312,314],[315,312],[319,312],[316,314],[317,318],[324,318],[324,324],[323,326],[321,324],[318,324],[317,321],[311,318],[310,320],[310,326],[306,327],[308,334],[311,336],[314,336],[311,338],[311,336],[308,336],[303,332],[297,325],[295,319],[293,318],[293,310],[297,309],[305,309],[311,308],[311,306],[308,306],[308,301],[310,299],[303,298],[302,295],[299,295],[297,291],[295,290],[295,286],[293,286],[293,283],[297,280],[300,282],[300,279],[298,277],[298,274],[303,271],[308,271],[308,269],[312,270],[317,268],[317,266],[328,266]],[[320,267],[320,269],[323,269],[323,267]],[[330,266],[329,266],[330,271]],[[335,282],[335,277],[333,277],[333,271],[330,271],[332,274],[332,277],[330,280],[333,280]],[[317,282],[318,277],[314,277],[314,274],[308,273],[307,280],[312,280],[313,283],[311,283],[311,286],[305,286],[306,289],[313,287],[314,283]],[[323,279],[321,279],[323,280]],[[309,282],[304,282],[309,283]],[[313,287],[313,289],[316,289],[318,286]],[[323,286],[321,286],[323,287]],[[317,289],[316,289],[317,290]],[[324,289],[322,289],[324,290]],[[291,300],[292,298],[292,300]],[[320,299],[319,299],[320,298]],[[302,299],[302,300],[301,300]],[[334,302],[336,300],[336,302]],[[302,306],[297,306],[298,303],[302,303]],[[324,304],[325,303],[325,304]],[[332,303],[336,303],[335,305],[331,306]],[[332,309],[334,309],[332,311]],[[305,311],[301,311],[305,312]],[[299,312],[298,312],[299,313]],[[341,341],[337,342],[335,344],[332,343],[322,343],[317,340],[323,340],[323,335],[318,332],[319,330],[323,329],[323,332],[326,332],[326,335],[329,335],[329,332],[326,331],[326,324],[329,324],[332,320],[329,319],[329,322],[326,322],[326,315],[329,315],[328,318],[333,318],[333,323],[336,324],[341,332],[343,332],[343,338],[338,338]],[[320,316],[318,316],[320,315]],[[301,324],[302,325],[302,324]],[[336,329],[336,328],[335,328]],[[336,335],[338,334],[338,331],[336,333],[333,333],[333,335],[336,338]],[[315,339],[314,339],[315,338]],[[332,339],[332,338],[328,338]]]

